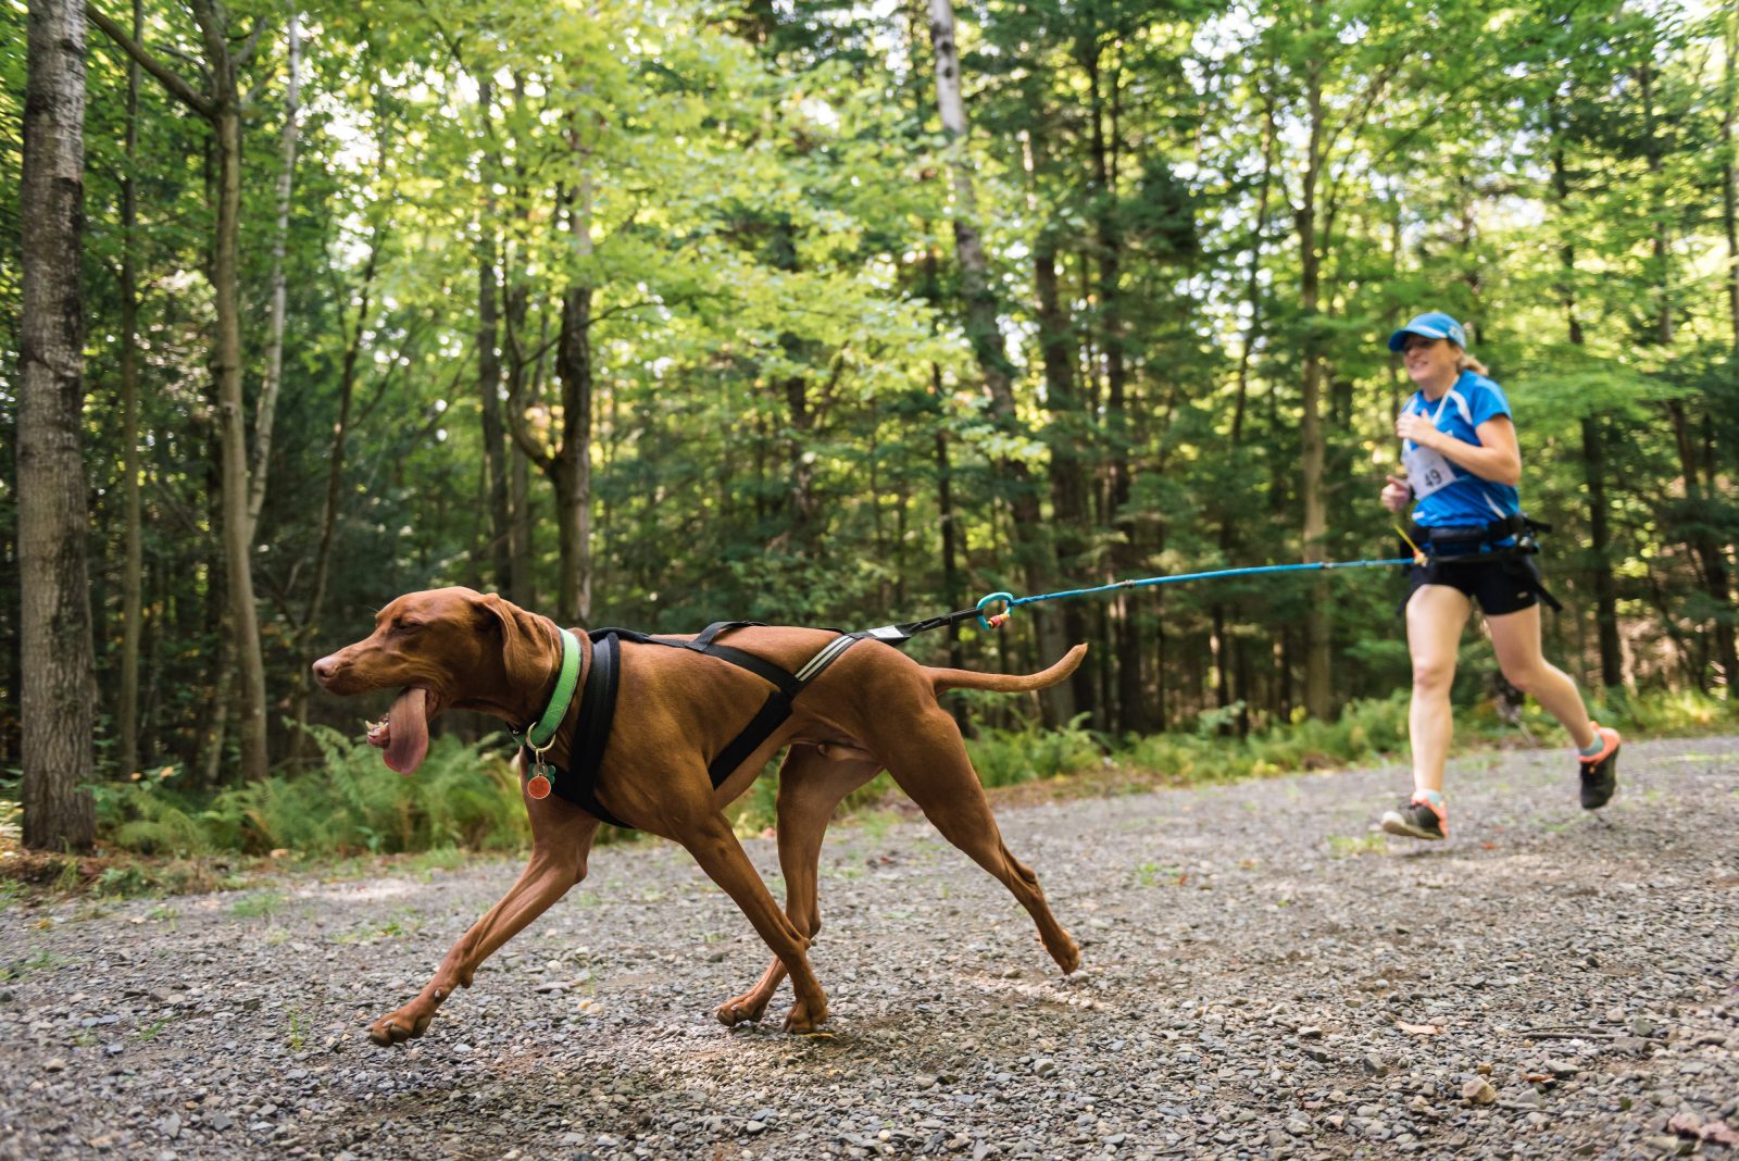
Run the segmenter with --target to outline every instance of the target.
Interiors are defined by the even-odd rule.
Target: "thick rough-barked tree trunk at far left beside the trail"
[[[96,657],[85,570],[85,16],[31,0],[19,216],[24,295],[17,414],[24,845],[89,850]]]

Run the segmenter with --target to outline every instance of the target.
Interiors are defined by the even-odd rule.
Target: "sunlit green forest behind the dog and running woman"
[[[89,14],[99,786],[348,761],[318,726],[358,709],[310,660],[438,584],[570,626],[868,627],[1395,556],[1377,490],[1410,384],[1383,339],[1423,309],[1468,323],[1513,401],[1567,605],[1548,653],[1596,693],[1729,695],[1732,7]],[[0,24],[16,770],[24,3]],[[1092,643],[1069,685],[962,706],[969,726],[1231,737],[1405,688],[1402,593],[1393,570],[1219,580],[913,652],[1031,669]]]

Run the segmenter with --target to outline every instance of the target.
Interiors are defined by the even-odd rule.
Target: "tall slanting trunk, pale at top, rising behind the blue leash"
[[[989,264],[977,231],[977,196],[972,189],[972,162],[967,153],[967,109],[960,92],[960,47],[955,42],[953,0],[929,0],[930,47],[936,52],[936,108],[948,139],[948,169],[953,179],[953,231],[955,259],[960,262],[960,287],[965,297],[967,337],[984,375],[993,421],[1007,433],[1019,429],[1014,405],[1014,367],[1009,363],[1007,342],[996,318],[996,297],[991,292]],[[1023,579],[1033,593],[1049,586],[1047,556],[1050,554],[1040,514],[1038,490],[1026,464],[1005,461],[998,474],[1009,481],[1009,506],[1014,514],[1014,556]],[[1038,647],[1045,657],[1063,655],[1063,622],[1038,614],[1033,617]],[[1045,721],[1063,721],[1068,709],[1066,692],[1059,687],[1040,695]]]

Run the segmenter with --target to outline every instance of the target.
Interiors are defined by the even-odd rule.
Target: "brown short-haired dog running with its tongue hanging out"
[[[795,671],[836,633],[744,627],[729,634],[743,652]],[[581,636],[584,664],[591,645]],[[1029,676],[930,669],[882,641],[859,641],[805,688],[793,714],[730,775],[713,786],[708,760],[767,697],[767,683],[716,657],[661,645],[621,645],[621,697],[612,740],[596,772],[598,803],[628,824],[682,843],[743,909],[774,952],[762,979],[720,1005],[725,1024],[758,1020],[790,973],[796,1003],[786,1031],[809,1031],[828,1017],[828,999],[809,966],[807,947],[821,930],[816,872],[821,836],[845,794],[887,768],[943,836],[996,876],[1033,916],[1045,951],[1064,972],[1080,963],[1069,933],[1050,914],[1038,878],[1002,843],[996,820],[960,730],[936,693],[946,688],[1040,690],[1064,680],[1087,647]],[[400,688],[384,728],[370,740],[386,763],[410,773],[428,751],[428,720],[447,709],[476,709],[523,730],[556,685],[562,645],[555,622],[499,596],[431,589],[400,596],[374,619],[374,633],[315,662],[320,685],[353,695]],[[548,760],[567,766],[579,697],[556,732]],[[786,909],[730,833],[723,808],[784,746],[779,768],[779,866]],[[454,987],[470,987],[476,966],[567,888],[586,876],[598,819],[560,798],[525,794],[532,859],[518,881],[442,959],[416,999],[369,1027],[377,1045],[421,1036]]]

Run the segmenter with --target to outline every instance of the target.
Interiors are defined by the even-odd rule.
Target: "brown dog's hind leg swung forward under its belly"
[[[809,940],[821,932],[817,867],[821,839],[840,799],[882,770],[871,758],[826,758],[821,747],[793,746],[779,766],[779,869],[784,872],[784,914]],[[755,987],[727,999],[715,1013],[722,1024],[760,1020],[784,980],[777,956]]]

